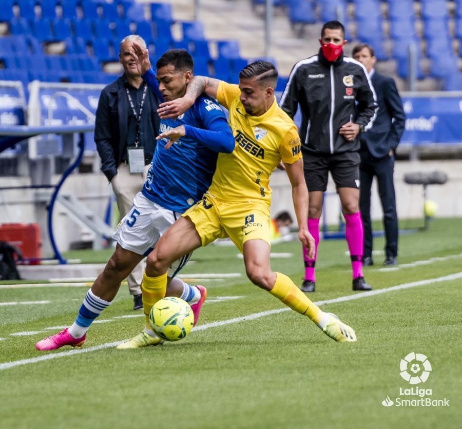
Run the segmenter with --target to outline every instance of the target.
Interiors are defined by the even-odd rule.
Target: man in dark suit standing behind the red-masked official
[[[394,152],[405,127],[406,115],[394,80],[375,71],[374,50],[368,44],[353,48],[353,58],[368,70],[377,95],[377,117],[372,128],[361,135],[359,207],[364,225],[364,265],[373,265],[371,226],[371,187],[374,176],[383,209],[385,253],[383,265],[396,265],[398,255],[398,217],[393,184]]]

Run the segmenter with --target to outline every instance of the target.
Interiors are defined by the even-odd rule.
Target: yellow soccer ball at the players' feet
[[[149,325],[166,341],[178,341],[191,332],[194,313],[181,298],[166,297],[154,304],[149,313]]]

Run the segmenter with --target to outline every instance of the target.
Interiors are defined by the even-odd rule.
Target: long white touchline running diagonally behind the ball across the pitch
[[[411,287],[423,286],[423,285],[426,285],[426,284],[447,282],[447,281],[451,281],[451,280],[457,280],[457,279],[460,279],[460,278],[462,278],[462,271],[456,272],[455,274],[450,274],[449,276],[437,277],[435,279],[419,280],[419,281],[416,281],[416,282],[403,283],[403,284],[399,284],[399,285],[396,285],[396,286],[391,286],[391,287],[387,287],[387,288],[383,288],[383,289],[371,290],[370,292],[360,292],[359,294],[347,295],[347,296],[328,299],[328,300],[324,300],[324,301],[317,301],[317,302],[315,302],[315,304],[320,306],[320,305],[324,305],[324,304],[335,304],[335,303],[338,303],[338,302],[353,301],[353,300],[357,300],[357,299],[360,299],[360,298],[367,298],[367,297],[371,297],[371,296],[374,296],[374,295],[385,294],[387,292],[392,292],[392,291],[395,291],[395,290],[409,289]],[[290,310],[291,309],[288,308],[288,307],[277,308],[277,309],[274,309],[274,310],[260,311],[260,313],[254,313],[254,314],[250,314],[250,315],[247,315],[247,316],[237,317],[235,319],[227,319],[227,320],[220,320],[220,321],[217,321],[217,322],[205,323],[203,325],[196,326],[194,328],[194,331],[204,330],[204,329],[213,328],[213,327],[217,327],[217,326],[230,325],[230,324],[233,324],[233,323],[244,322],[246,320],[255,320],[255,319],[258,319],[260,317],[269,316],[269,315],[272,315],[272,314],[283,313],[284,311],[290,311]],[[93,346],[93,347],[89,347],[89,348],[83,348],[83,349],[80,349],[80,350],[68,350],[66,352],[51,353],[51,354],[48,354],[48,355],[45,355],[45,356],[38,356],[36,358],[21,359],[21,360],[12,361],[12,362],[3,362],[3,363],[0,363],[0,371],[2,369],[12,368],[14,366],[27,365],[28,363],[37,363],[37,362],[42,362],[42,361],[45,361],[45,360],[50,360],[50,359],[55,359],[55,358],[64,358],[66,356],[76,355],[76,354],[80,354],[80,353],[87,353],[87,352],[93,352],[95,350],[102,350],[104,348],[117,346],[123,341],[125,341],[125,340],[116,341],[116,342],[113,342],[113,343],[101,344],[101,345],[97,345],[97,346]]]

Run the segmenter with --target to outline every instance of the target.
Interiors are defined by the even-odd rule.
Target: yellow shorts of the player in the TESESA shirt
[[[269,207],[259,201],[225,202],[205,196],[182,214],[196,226],[206,246],[217,238],[229,237],[242,252],[247,240],[269,241]]]

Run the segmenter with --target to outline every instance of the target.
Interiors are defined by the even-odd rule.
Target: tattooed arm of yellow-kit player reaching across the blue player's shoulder
[[[159,117],[161,119],[177,118],[188,110],[203,92],[216,99],[220,82],[219,79],[213,79],[213,77],[194,76],[188,83],[183,97],[159,105],[157,109]]]

